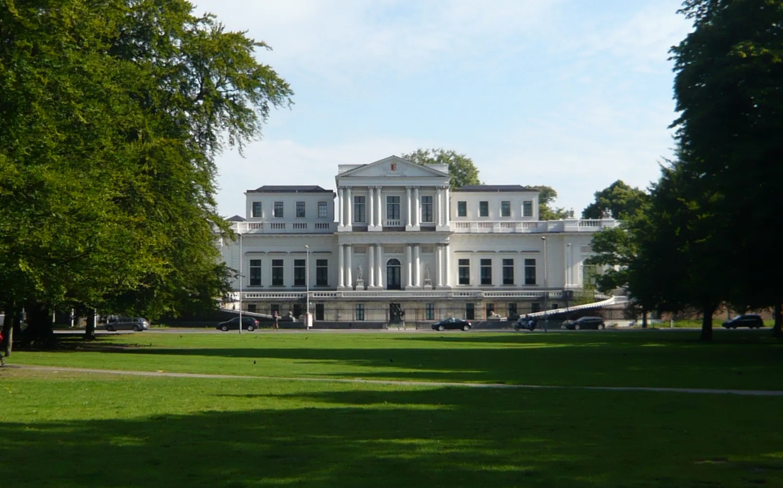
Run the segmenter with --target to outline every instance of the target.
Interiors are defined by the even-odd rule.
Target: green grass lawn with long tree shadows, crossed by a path
[[[710,345],[677,331],[144,332],[101,339],[106,352],[14,352],[9,363],[783,389],[779,343],[756,331],[719,332]],[[783,397],[19,368],[0,368],[0,394],[4,488],[783,486]]]

